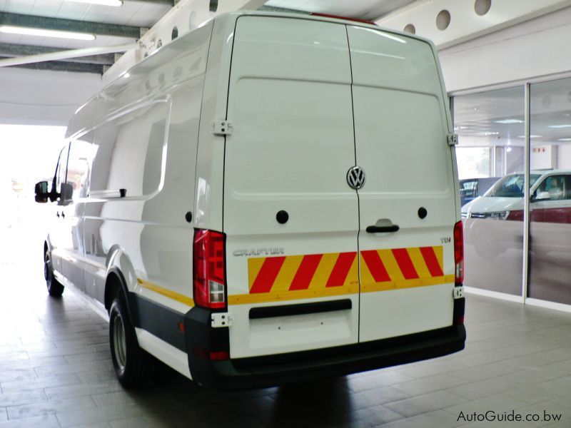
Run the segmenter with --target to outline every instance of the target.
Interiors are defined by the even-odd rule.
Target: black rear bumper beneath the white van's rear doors
[[[464,349],[464,325],[355,345],[208,361],[192,357],[193,379],[216,389],[250,389],[380,369]],[[189,360],[191,357],[189,356]]]

